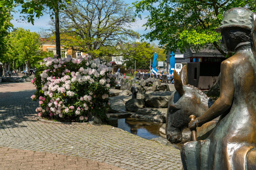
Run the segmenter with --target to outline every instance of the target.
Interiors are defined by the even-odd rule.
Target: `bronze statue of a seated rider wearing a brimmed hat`
[[[221,63],[220,97],[188,125],[193,130],[218,116],[220,119],[205,140],[182,145],[183,168],[255,170],[256,13],[232,8],[225,12],[216,31],[227,51],[235,54]]]

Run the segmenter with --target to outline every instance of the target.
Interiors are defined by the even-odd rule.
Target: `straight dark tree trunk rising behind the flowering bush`
[[[55,37],[56,37],[56,55],[58,55],[57,58],[61,57],[60,52],[60,21],[59,21],[59,5],[58,2],[56,2],[55,6]]]

